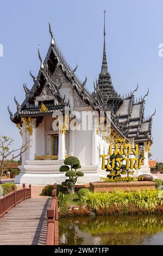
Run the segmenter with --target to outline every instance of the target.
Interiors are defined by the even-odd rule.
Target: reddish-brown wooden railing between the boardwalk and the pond
[[[59,245],[57,184],[54,184],[52,190],[52,204],[51,208],[47,209],[47,217],[46,245]]]

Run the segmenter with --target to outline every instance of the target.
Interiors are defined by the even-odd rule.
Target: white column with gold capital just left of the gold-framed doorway
[[[30,135],[29,143],[29,160],[35,160],[36,153],[36,119],[32,119],[32,135]]]

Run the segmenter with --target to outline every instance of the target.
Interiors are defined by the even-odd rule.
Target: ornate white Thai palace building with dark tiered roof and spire
[[[98,81],[94,83],[94,92],[86,89],[86,78],[80,82],[75,72],[62,56],[57,46],[49,21],[51,44],[47,56],[41,62],[39,74],[33,78],[33,87],[28,89],[23,85],[26,98],[22,105],[14,98],[17,111],[10,113],[22,135],[23,144],[29,141],[29,147],[22,155],[21,173],[16,176],[15,182],[26,184],[60,184],[65,180],[65,174],[59,172],[66,156],[77,156],[82,165],[84,176],[79,178],[80,183],[99,181],[100,176],[106,176],[102,170],[101,154],[108,154],[109,143],[112,138],[125,138],[127,142],[139,144],[146,157],[136,175],[149,173],[148,151],[152,144],[153,115],[145,120],[145,100],[148,92],[139,101],[135,101],[136,89],[125,97],[118,94],[111,81],[106,61],[105,46],[105,12],[104,12],[104,48],[102,68]],[[71,120],[75,119],[75,111],[110,111],[111,134],[103,135],[93,123],[92,130],[54,130],[52,127],[55,118],[53,113],[71,112]],[[76,126],[80,125],[80,119]]]

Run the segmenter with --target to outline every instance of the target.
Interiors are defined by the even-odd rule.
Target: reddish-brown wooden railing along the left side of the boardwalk
[[[0,218],[7,213],[12,207],[15,207],[22,200],[31,198],[31,185],[26,188],[26,184],[23,184],[21,190],[15,190],[15,186],[12,186],[12,192],[0,197]]]

